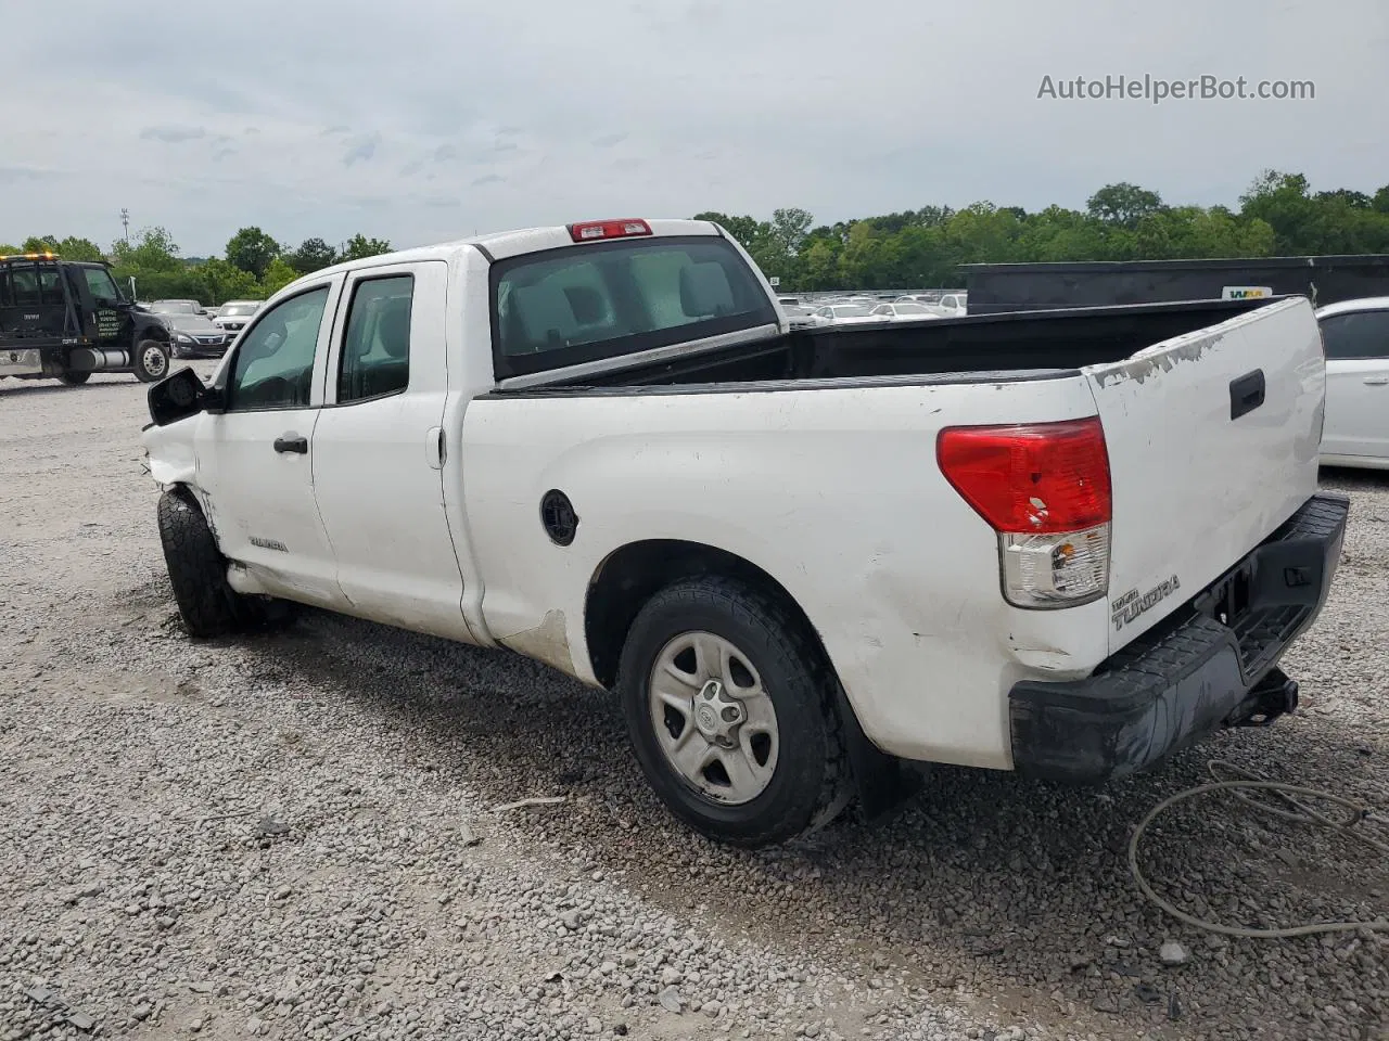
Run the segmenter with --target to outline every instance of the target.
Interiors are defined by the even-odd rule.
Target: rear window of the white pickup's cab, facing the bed
[[[499,379],[776,322],[728,240],[642,237],[531,253],[492,265]]]

